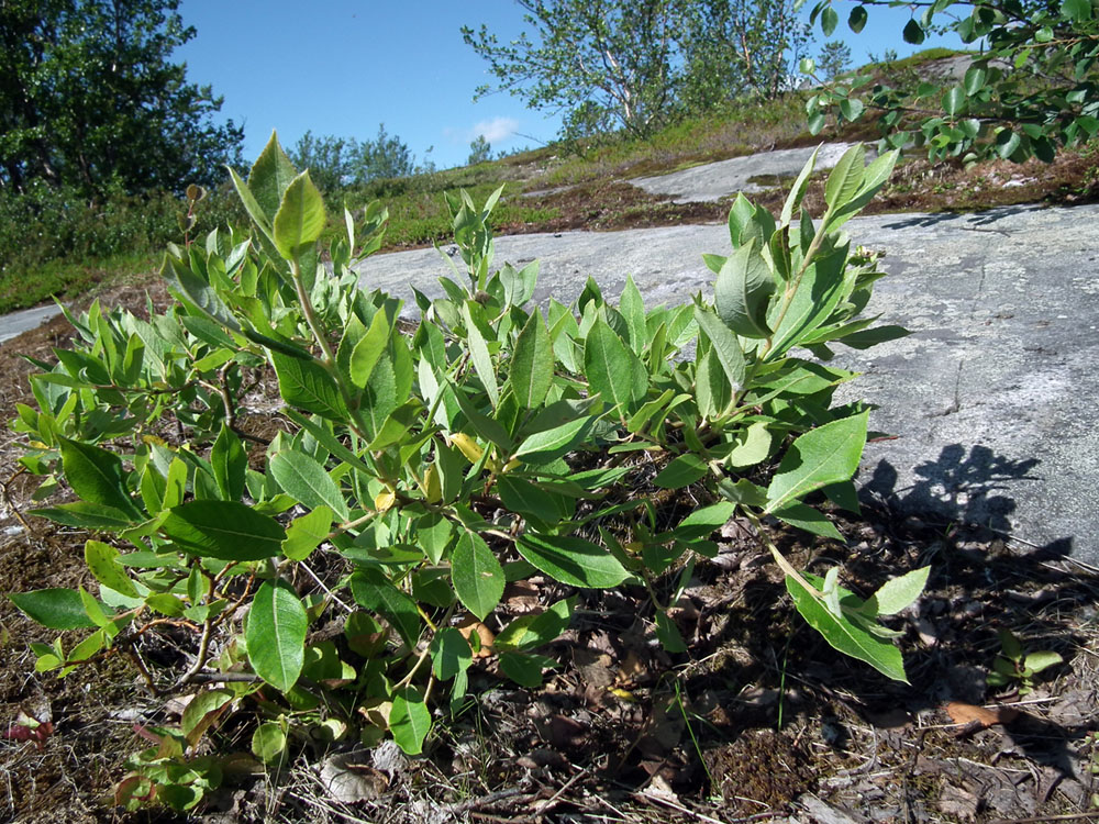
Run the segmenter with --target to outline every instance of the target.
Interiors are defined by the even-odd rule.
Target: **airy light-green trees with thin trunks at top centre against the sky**
[[[775,94],[804,42],[791,0],[517,2],[531,33],[503,43],[481,25],[463,37],[488,62],[496,90],[562,111],[566,136],[615,127],[643,136],[685,108]]]

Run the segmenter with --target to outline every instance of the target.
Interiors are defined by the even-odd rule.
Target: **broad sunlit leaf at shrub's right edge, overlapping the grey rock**
[[[866,445],[869,414],[832,421],[795,441],[767,488],[765,511],[775,513],[814,489],[850,480]]]

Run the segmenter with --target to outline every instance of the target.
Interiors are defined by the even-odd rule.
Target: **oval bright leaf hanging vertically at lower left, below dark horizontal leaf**
[[[248,661],[256,675],[286,692],[306,662],[309,616],[286,581],[264,581],[256,590],[244,622]]]

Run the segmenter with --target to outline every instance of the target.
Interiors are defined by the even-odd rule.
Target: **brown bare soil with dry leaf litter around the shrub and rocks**
[[[1097,192],[1090,169],[1090,157],[1066,154],[1036,169],[1044,174],[1033,183],[1004,189],[1006,180],[1026,178],[1028,167],[978,175],[913,163],[886,202],[928,209],[1017,192],[1030,201],[1075,202]],[[724,219],[725,207],[673,208],[633,192],[608,183],[546,198],[570,204],[564,211],[577,226],[599,225],[607,202],[615,204],[608,214],[636,221],[608,218],[608,229],[695,222],[711,208],[713,220]],[[560,226],[567,227],[574,226]],[[163,288],[147,288],[163,304]],[[101,300],[136,311],[145,290],[145,283],[116,287]],[[19,402],[33,403],[26,376],[34,367],[19,355],[51,359],[52,347],[68,339],[67,324],[55,319],[0,346],[0,417],[10,420]],[[259,431],[277,422],[249,425]],[[18,472],[18,455],[10,436],[0,447],[0,590],[88,586],[89,535],[20,514],[33,505],[35,482]],[[588,594],[571,630],[546,653],[558,668],[542,689],[518,689],[493,657],[481,659],[471,671],[476,700],[453,720],[436,719],[423,757],[301,744],[282,769],[226,780],[189,817],[113,805],[122,760],[147,746],[134,725],[178,721],[170,705],[151,697],[121,660],[66,679],[35,673],[27,643],[55,634],[2,599],[0,731],[10,731],[20,712],[52,730],[41,742],[0,737],[0,820],[1023,824],[1099,817],[1091,735],[1099,723],[1099,578],[1052,548],[1024,550],[989,531],[901,517],[885,505],[836,517],[844,545],[779,530],[774,538],[810,571],[842,564],[844,586],[863,594],[882,576],[932,566],[925,595],[893,621],[904,634],[910,684],[888,681],[824,644],[793,612],[756,539],[733,523],[722,533],[721,554],[699,563],[677,604],[687,653],[669,655],[655,643],[645,593]],[[506,609],[565,594],[559,584],[535,580],[510,591]],[[1028,686],[1021,681],[989,686],[1000,630],[1019,636],[1028,652],[1056,652],[1064,662],[1036,677],[1030,692],[1019,689]],[[197,645],[186,633],[170,641],[177,653]],[[166,679],[180,659],[163,656]],[[255,721],[243,712],[227,720],[215,734],[219,746],[247,751]],[[338,789],[322,781],[333,770],[344,779]]]

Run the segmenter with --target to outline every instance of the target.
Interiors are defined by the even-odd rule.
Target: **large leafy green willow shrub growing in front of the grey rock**
[[[715,300],[674,308],[645,307],[632,280],[617,304],[589,281],[570,305],[532,305],[537,264],[492,265],[499,191],[482,207],[449,197],[462,269],[441,278],[443,298],[413,290],[409,333],[401,301],[360,290],[353,268],[380,246],[385,211],[371,204],[360,227],[345,213],[322,263],[323,200],[273,138],[247,181],[233,175],[252,233],[169,248],[177,305],[71,316],[81,343],[40,364],[37,409],[13,425],[43,493],[64,482],[77,497],[36,514],[100,535],[85,548],[98,586],[11,599],[47,627],[89,631],[33,645],[40,671],[126,655],[156,692],[193,693],[178,728],[143,731],[156,744],[129,761],[120,802],[197,804],[221,780],[200,741],[245,709],[265,719],[264,760],[311,731],[420,753],[468,700],[478,654],[537,687],[556,666],[545,645],[589,590],[647,592],[653,634],[685,653],[668,608],[734,516],[830,644],[903,680],[879,616],[928,570],[863,600],[839,568],[796,569],[763,524],[841,538],[807,499],[857,508],[869,413],[832,403],[853,372],[806,356],[903,334],[859,316],[881,272],[841,232],[896,155],[864,167],[848,152],[815,222],[800,208],[813,162],[778,219],[737,199],[732,254],[706,256]],[[285,404],[269,443],[243,427],[257,378]],[[697,505],[684,516],[662,490]],[[532,577],[560,597],[499,613],[507,583]],[[468,627],[493,613],[482,650]],[[142,639],[178,627],[192,661],[152,669]]]

